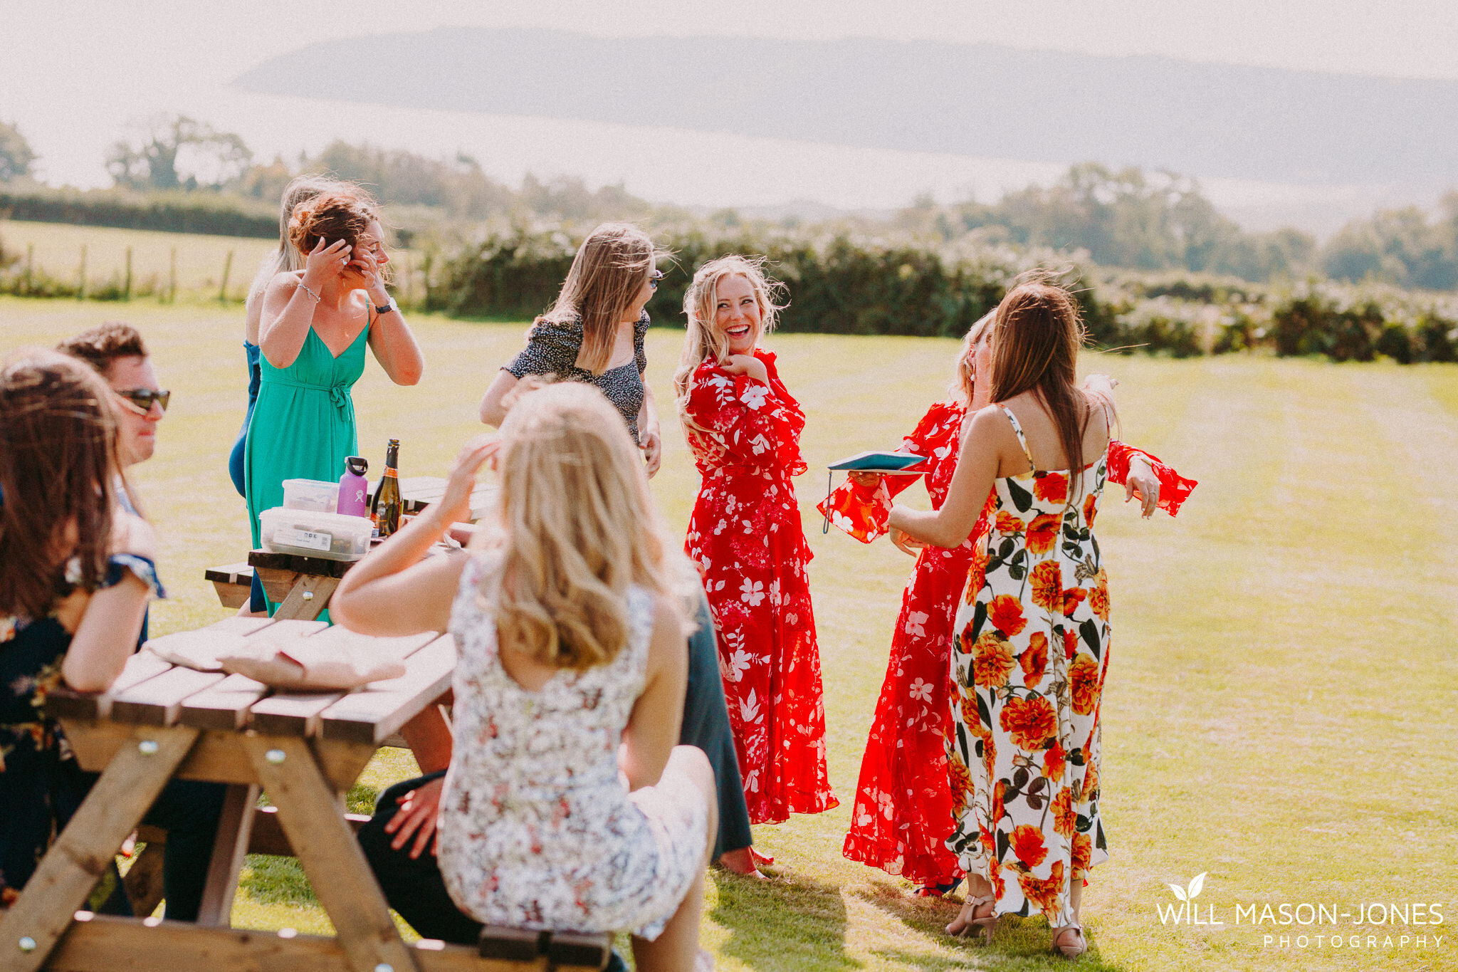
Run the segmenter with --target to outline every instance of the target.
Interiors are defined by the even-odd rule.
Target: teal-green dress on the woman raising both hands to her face
[[[243,449],[254,549],[260,546],[258,514],[283,506],[284,479],[338,479],[344,474],[344,459],[359,455],[350,389],[364,373],[370,325],[338,357],[330,354],[311,326],[299,357],[289,367],[274,367],[267,357],[260,358],[262,382]],[[268,614],[277,606],[270,600]]]

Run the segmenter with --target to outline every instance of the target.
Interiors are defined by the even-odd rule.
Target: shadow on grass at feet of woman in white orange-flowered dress
[[[1099,956],[1098,937],[1085,928],[1089,950],[1070,963],[1063,956],[1053,955],[1053,933],[1048,922],[1038,918],[1019,918],[1005,915],[997,924],[997,931],[991,940],[954,938],[946,934],[946,924],[956,917],[961,901],[939,901],[935,898],[911,898],[897,887],[873,885],[853,890],[857,898],[869,902],[876,909],[897,918],[901,924],[937,938],[948,949],[955,949],[958,956],[927,956],[914,955],[894,949],[875,949],[873,955],[898,962],[913,969],[924,972],[943,972],[945,969],[1091,969],[1104,972],[1124,972],[1123,965],[1105,962]]]

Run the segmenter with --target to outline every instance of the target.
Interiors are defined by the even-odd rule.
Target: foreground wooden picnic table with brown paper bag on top
[[[446,691],[455,667],[451,635],[366,638],[318,621],[274,618],[229,618],[206,631],[276,641],[324,638],[341,648],[367,641],[376,651],[399,657],[405,673],[354,692],[283,694],[241,675],[174,666],[143,650],[106,692],[52,691],[47,713],[60,720],[82,768],[101,777],[19,899],[0,912],[0,968],[601,968],[553,965],[547,955],[487,959],[484,944],[426,941],[407,947],[354,839],[343,812],[344,793],[376,748]],[[197,924],[79,912],[172,778],[227,784]],[[229,928],[238,874],[261,816],[260,788],[274,804],[281,829],[281,841],[271,838],[280,845],[274,850],[287,847],[297,855],[337,937]]]

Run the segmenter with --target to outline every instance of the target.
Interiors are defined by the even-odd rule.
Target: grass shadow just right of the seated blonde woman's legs
[[[719,953],[751,969],[860,969],[846,955],[840,887],[803,874],[752,880],[710,871],[719,902],[710,917],[730,931]]]

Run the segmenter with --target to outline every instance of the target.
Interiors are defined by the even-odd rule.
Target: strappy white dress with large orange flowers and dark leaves
[[[991,882],[997,914],[1041,911],[1056,927],[1075,922],[1072,882],[1108,858],[1098,812],[1108,579],[1094,539],[1108,453],[1080,479],[1075,497],[1067,471],[996,481],[993,529],[952,628],[948,847]]]

